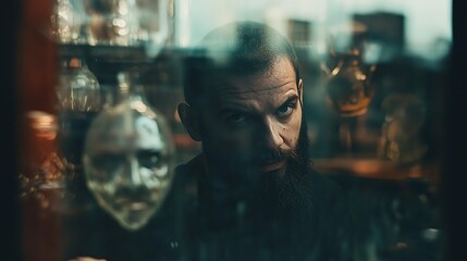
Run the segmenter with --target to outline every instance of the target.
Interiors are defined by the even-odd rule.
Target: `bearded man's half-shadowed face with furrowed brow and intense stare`
[[[302,85],[292,63],[279,58],[266,72],[219,78],[200,115],[208,167],[231,177],[285,173],[302,126]]]

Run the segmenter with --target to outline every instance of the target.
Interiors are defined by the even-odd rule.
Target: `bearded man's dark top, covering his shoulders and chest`
[[[278,206],[274,195],[217,194],[196,157],[176,169],[182,260],[352,260],[351,213],[340,187],[309,170],[311,200]],[[241,188],[238,188],[241,189]]]

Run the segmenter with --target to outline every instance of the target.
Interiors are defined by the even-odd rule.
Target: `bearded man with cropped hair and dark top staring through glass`
[[[189,260],[352,260],[345,199],[311,167],[290,42],[267,25],[231,23],[185,65],[179,113],[202,145],[177,167],[173,192],[191,195]]]

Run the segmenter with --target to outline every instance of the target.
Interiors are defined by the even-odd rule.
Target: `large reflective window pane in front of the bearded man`
[[[27,260],[446,256],[450,1],[42,12],[25,28],[46,51],[21,61]],[[32,73],[40,54],[46,78]]]

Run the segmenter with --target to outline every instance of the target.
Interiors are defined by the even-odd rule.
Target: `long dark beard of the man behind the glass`
[[[214,161],[212,181],[214,201],[245,201],[261,208],[306,209],[311,203],[310,175],[312,173],[309,157],[310,141],[307,135],[305,117],[297,145],[292,150],[261,150],[258,152],[256,166],[261,162],[286,161],[285,167],[274,172],[261,172],[248,164],[208,159]],[[205,150],[205,153],[210,154]],[[212,154],[211,154],[212,156]],[[209,156],[208,156],[209,157]],[[222,170],[220,172],[219,170]],[[221,202],[219,202],[221,203]]]

